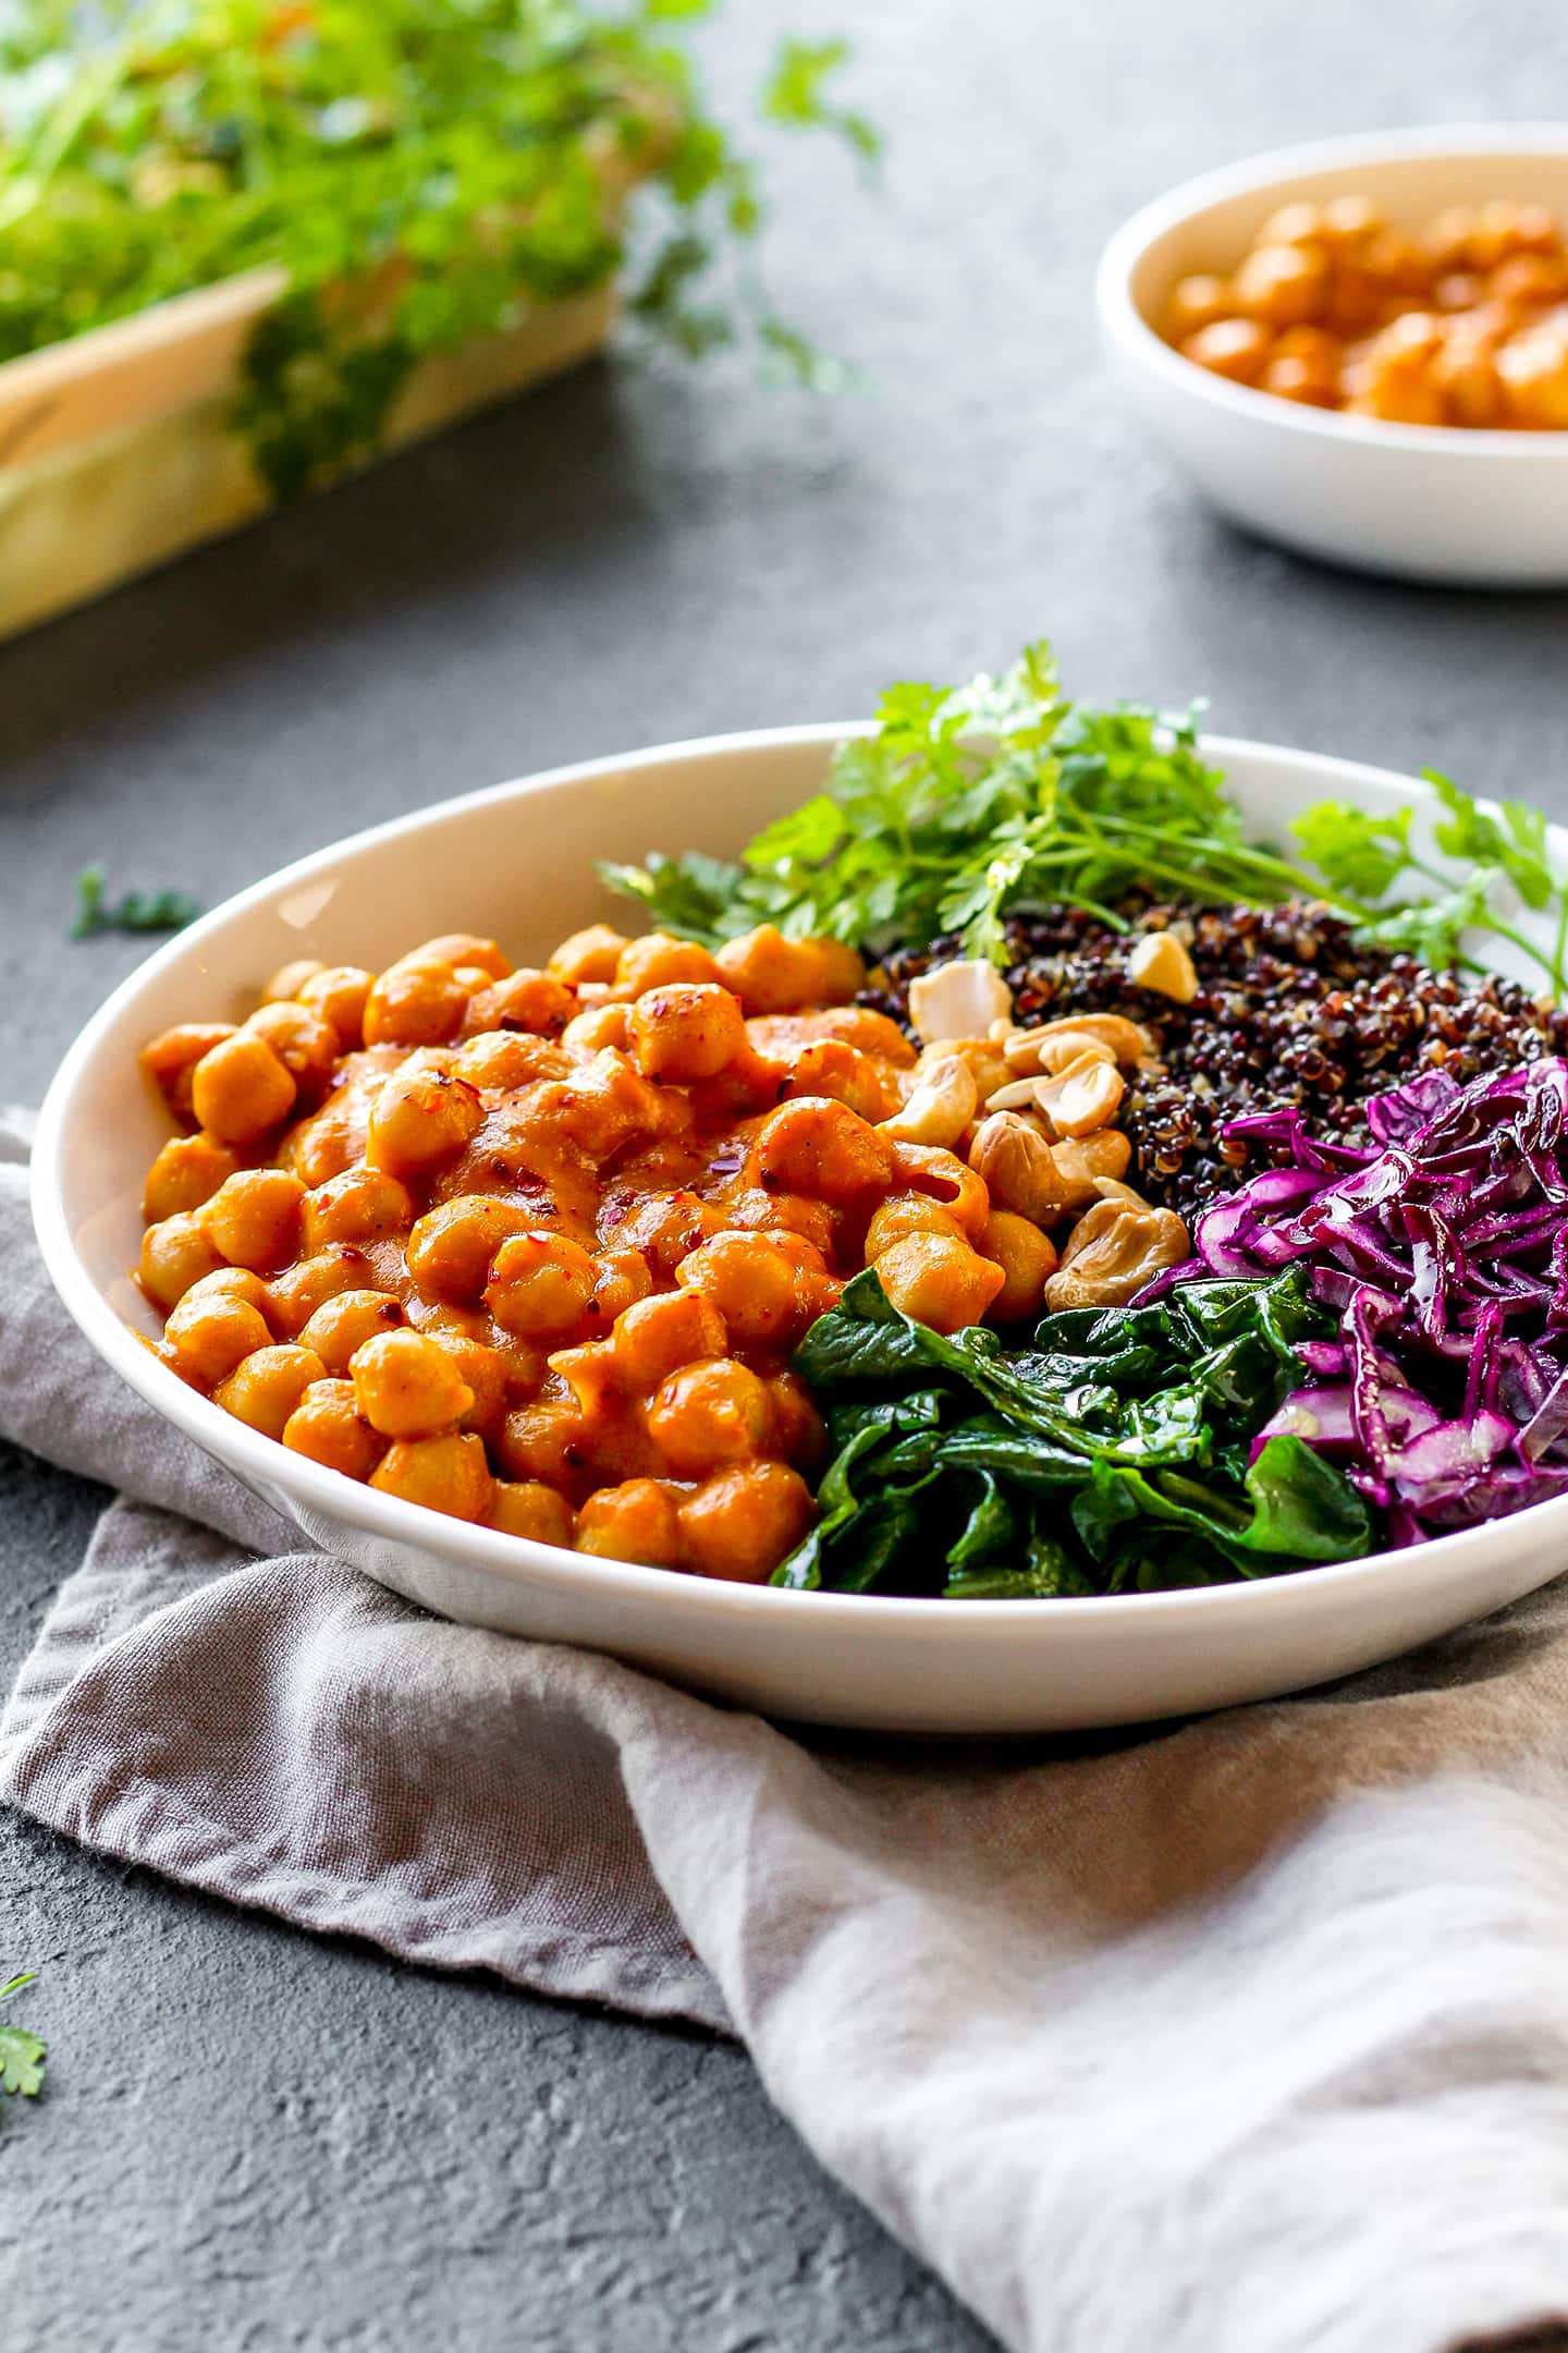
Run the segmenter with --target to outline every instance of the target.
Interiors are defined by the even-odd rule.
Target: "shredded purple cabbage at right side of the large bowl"
[[[1469,1087],[1429,1071],[1366,1106],[1375,1151],[1295,1111],[1232,1120],[1291,1153],[1197,1224],[1185,1275],[1314,1264],[1340,1337],[1258,1433],[1340,1464],[1392,1544],[1568,1492],[1568,1061]]]

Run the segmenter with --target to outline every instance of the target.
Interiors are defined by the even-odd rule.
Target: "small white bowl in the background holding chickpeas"
[[[1178,278],[1229,273],[1295,198],[1371,195],[1399,228],[1505,195],[1568,221],[1568,125],[1375,132],[1192,179],[1105,247],[1095,301],[1154,438],[1234,522],[1366,572],[1476,588],[1568,581],[1568,433],[1394,426],[1253,393],[1157,334]]]

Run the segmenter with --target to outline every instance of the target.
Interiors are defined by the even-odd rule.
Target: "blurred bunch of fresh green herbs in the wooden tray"
[[[280,266],[237,426],[280,499],[386,431],[411,369],[635,259],[686,353],[750,332],[825,381],[741,247],[757,172],[686,38],[712,0],[16,0],[0,12],[0,360]],[[785,42],[762,113],[827,129],[842,42]]]

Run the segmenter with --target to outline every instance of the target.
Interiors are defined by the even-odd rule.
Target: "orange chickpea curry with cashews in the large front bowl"
[[[1180,998],[1175,939],[1145,986]],[[994,967],[578,932],[289,965],[143,1066],[160,1358],[252,1428],[461,1520],[762,1581],[816,1520],[792,1355],[844,1285],[938,1334],[1119,1304],[1187,1257],[1126,1184],[1119,1016],[1020,1028]],[[910,1031],[914,1035],[910,1035]]]

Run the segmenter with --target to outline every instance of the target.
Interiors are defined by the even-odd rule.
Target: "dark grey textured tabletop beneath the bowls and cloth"
[[[1107,398],[1088,313],[1117,219],[1211,162],[1568,111],[1561,7],[731,0],[717,80],[785,21],[853,31],[893,141],[877,200],[780,155],[769,254],[875,395],[602,365],[2,649],[5,1094],[139,953],[66,946],[87,859],[212,904],[451,791],[865,711],[1039,631],[1081,692],[1208,692],[1227,732],[1568,812],[1568,602],[1234,536]],[[96,1501],[0,1454],[7,1675]],[[47,2099],[0,2120],[7,2353],[983,2341],[733,2049],[313,1944],[9,1819],[0,1960],[40,1969],[19,2014],[52,2042]]]

